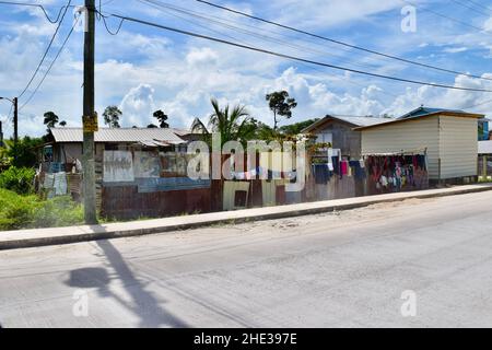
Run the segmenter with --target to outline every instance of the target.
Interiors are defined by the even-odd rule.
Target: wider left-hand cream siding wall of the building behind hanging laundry
[[[362,154],[427,149],[429,175],[438,178],[438,117],[427,117],[362,130]],[[477,142],[476,142],[477,143]]]

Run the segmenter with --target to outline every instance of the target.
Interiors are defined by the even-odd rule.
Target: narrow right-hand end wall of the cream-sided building
[[[441,117],[441,177],[477,175],[478,120]]]

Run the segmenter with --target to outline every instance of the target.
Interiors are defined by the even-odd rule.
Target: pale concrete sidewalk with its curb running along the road
[[[281,207],[255,208],[238,211],[206,213],[188,217],[164,218],[103,225],[39,229],[0,232],[0,250],[37,246],[71,244],[96,240],[139,236],[169,231],[189,230],[223,223],[283,219],[330,211],[349,210],[371,205],[456,196],[492,190],[492,184],[467,185],[414,192],[387,194],[371,197],[347,198]]]

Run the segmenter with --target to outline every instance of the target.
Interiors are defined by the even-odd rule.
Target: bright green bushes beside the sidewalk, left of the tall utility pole
[[[82,206],[69,196],[42,200],[0,188],[0,230],[70,226],[83,223]]]

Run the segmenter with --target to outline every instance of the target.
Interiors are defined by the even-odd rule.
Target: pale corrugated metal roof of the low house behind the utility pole
[[[82,128],[50,128],[56,142],[82,142]],[[161,128],[99,128],[94,132],[95,142],[147,142],[164,141],[172,144],[186,143],[172,129]]]

